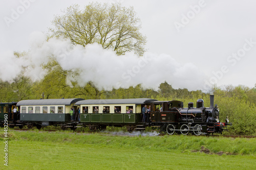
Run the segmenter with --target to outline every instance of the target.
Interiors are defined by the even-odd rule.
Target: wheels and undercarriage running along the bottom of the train
[[[18,127],[22,129],[24,126],[27,126],[28,129],[32,129],[36,127],[37,129],[44,128],[46,126],[55,126],[62,130],[67,130],[70,128],[71,130],[76,130],[77,128],[88,127],[90,131],[104,131],[107,126],[112,127],[126,127],[127,132],[133,131],[145,131],[146,127],[150,127],[152,131],[157,131],[159,133],[166,133],[169,135],[173,134],[182,134],[182,135],[209,135],[214,133],[222,134],[223,131],[227,131],[228,124],[222,123],[139,123],[139,124],[86,124],[80,122],[67,122],[67,123],[46,123],[46,122],[10,122],[9,127],[14,128]]]

